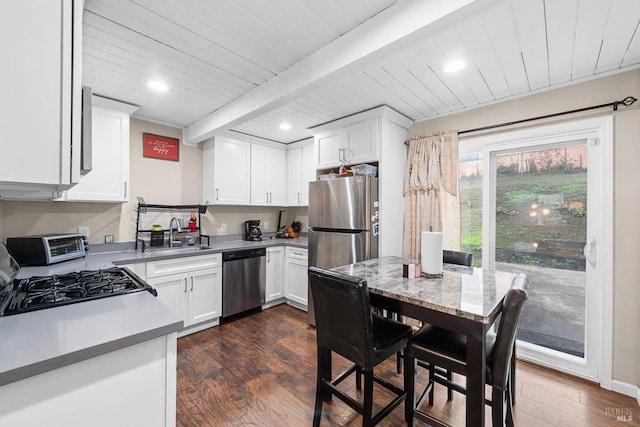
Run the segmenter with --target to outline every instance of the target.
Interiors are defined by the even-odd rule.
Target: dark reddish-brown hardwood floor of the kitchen
[[[348,366],[339,356],[333,364],[335,373]],[[315,329],[307,324],[305,312],[287,305],[180,338],[177,425],[310,426],[315,367]],[[394,358],[376,368],[376,374],[402,384]],[[354,383],[343,384],[355,396]],[[384,389],[374,389],[378,402],[387,397]],[[379,425],[404,425],[403,408],[400,405]],[[436,390],[433,408],[425,404],[423,410],[449,424],[464,425],[462,395],[447,402],[446,391]],[[640,425],[635,399],[524,362],[518,363],[514,411],[517,426]],[[616,414],[632,419],[617,421]],[[491,425],[488,407],[487,423]],[[323,405],[321,425],[361,425],[361,418],[334,399]]]

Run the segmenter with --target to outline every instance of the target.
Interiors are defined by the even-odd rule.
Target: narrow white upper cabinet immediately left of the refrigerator
[[[313,141],[287,147],[287,206],[309,205],[309,181],[316,179]],[[294,146],[295,145],[295,146]]]

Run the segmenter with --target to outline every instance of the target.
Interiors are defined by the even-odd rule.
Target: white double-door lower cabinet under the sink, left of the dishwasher
[[[222,315],[221,254],[147,263],[147,283],[182,317],[180,336],[215,326]]]

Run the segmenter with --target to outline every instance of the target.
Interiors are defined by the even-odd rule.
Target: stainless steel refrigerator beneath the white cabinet
[[[333,268],[378,257],[378,179],[309,183],[309,265]],[[315,325],[309,292],[308,321]]]

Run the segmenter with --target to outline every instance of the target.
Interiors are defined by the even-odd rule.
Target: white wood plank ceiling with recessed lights
[[[366,38],[367,25],[397,17],[408,3],[87,0],[83,84],[139,105],[136,117],[187,132],[209,116],[222,122],[217,131],[290,143],[309,137],[310,127],[379,105],[424,120],[640,66],[638,0],[457,3],[472,13],[447,25],[436,20],[424,36],[287,92],[295,83],[287,71],[313,63],[323,48],[339,52],[347,36]],[[445,73],[451,59],[467,65]],[[169,91],[153,92],[152,79]],[[283,87],[282,96],[253,105],[251,95],[267,82]],[[282,122],[292,128],[279,129]]]

